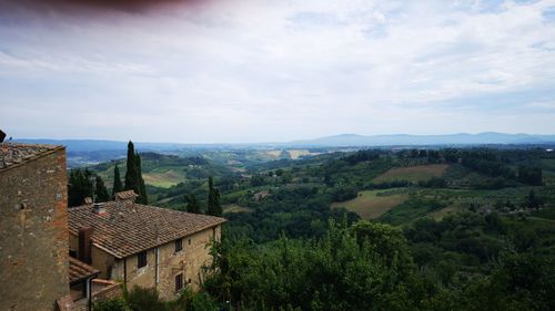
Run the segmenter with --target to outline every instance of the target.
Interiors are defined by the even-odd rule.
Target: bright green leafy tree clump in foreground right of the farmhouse
[[[355,232],[380,242],[361,242]],[[406,249],[398,230],[367,222],[347,230],[332,221],[319,240],[281,238],[262,247],[224,240],[214,249],[216,272],[205,288],[220,299],[260,310],[387,310],[391,296],[413,287]],[[420,304],[421,298],[402,297],[405,304]]]

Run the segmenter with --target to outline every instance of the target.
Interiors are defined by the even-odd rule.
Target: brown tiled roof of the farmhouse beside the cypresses
[[[69,228],[73,235],[78,235],[80,228],[91,227],[92,243],[117,258],[128,257],[225,221],[220,217],[130,201],[110,201],[104,207],[105,212],[101,215],[95,214],[90,205],[69,208]]]

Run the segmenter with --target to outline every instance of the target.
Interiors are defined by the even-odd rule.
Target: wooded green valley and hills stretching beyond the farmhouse
[[[148,157],[143,175],[168,165],[184,176],[148,184],[150,204],[223,212],[223,239],[201,292],[161,302],[129,289],[95,310],[555,310],[555,155],[545,148],[282,152],[241,169],[229,155]],[[112,160],[70,179],[110,187],[117,165],[123,175]],[[367,218],[356,206],[365,195],[398,201]]]

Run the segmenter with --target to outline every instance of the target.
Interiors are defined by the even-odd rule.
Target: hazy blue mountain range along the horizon
[[[65,145],[69,152],[124,151],[127,142],[95,139],[14,139],[20,143]],[[259,144],[180,144],[135,143],[140,151],[176,151],[183,148],[263,148],[263,147],[372,147],[372,146],[433,146],[433,145],[525,145],[555,144],[555,135],[505,134],[486,132],[448,135],[356,135],[342,134],[315,139]]]

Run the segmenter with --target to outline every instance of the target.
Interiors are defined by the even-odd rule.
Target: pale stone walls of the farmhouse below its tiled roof
[[[202,267],[211,263],[210,242],[220,239],[221,225],[194,232],[182,239],[183,249],[175,251],[175,241],[145,250],[147,265],[138,267],[138,255],[123,259],[92,246],[91,266],[101,271],[100,278],[125,282],[129,289],[134,286],[155,288],[164,300],[176,298],[175,277],[182,274],[183,286],[193,290],[202,281]],[[70,236],[70,249],[79,256],[79,237]],[[158,260],[157,260],[158,258]]]

